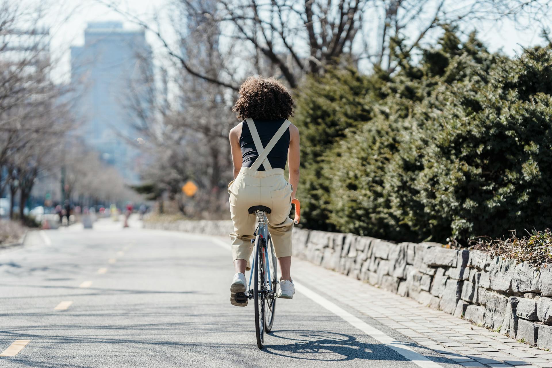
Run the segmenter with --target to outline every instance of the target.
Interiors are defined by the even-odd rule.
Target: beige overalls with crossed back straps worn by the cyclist
[[[252,206],[267,206],[272,211],[267,214],[268,231],[274,244],[276,257],[291,255],[291,229],[293,220],[289,217],[291,211],[291,191],[293,188],[284,178],[284,169],[273,169],[268,162],[268,154],[280,137],[288,129],[291,122],[284,121],[267,146],[263,148],[261,138],[252,119],[246,119],[253,143],[259,157],[251,168],[242,167],[235,180],[228,184],[230,194],[230,214],[234,231],[232,238],[232,257],[247,260],[247,270],[250,269],[250,255],[253,251],[253,232],[257,228],[257,217],[249,214]],[[257,171],[263,164],[264,171]]]

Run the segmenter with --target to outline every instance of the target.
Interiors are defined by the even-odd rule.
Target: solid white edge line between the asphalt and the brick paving
[[[222,248],[232,249],[230,244],[220,239],[209,238],[209,240],[211,242],[216,243],[218,246],[221,246]],[[422,368],[443,368],[442,365],[439,365],[436,362],[427,359],[425,356],[423,356],[420,353],[416,353],[416,351],[412,350],[410,346],[400,341],[397,341],[394,338],[390,337],[389,335],[381,332],[379,329],[370,326],[368,323],[362,321],[362,319],[353,316],[353,314],[337,306],[335,303],[332,303],[331,301],[327,300],[325,297],[321,296],[320,294],[317,294],[315,291],[310,290],[308,287],[302,284],[298,284],[296,281],[294,281],[294,284],[297,291],[305,295],[310,300],[326,308],[328,311],[332,312],[333,314],[336,314],[336,316],[342,318],[344,321],[351,324],[351,326],[358,328],[365,334],[378,340],[381,344],[387,346],[392,350],[395,350],[397,353],[401,354],[406,359],[412,361],[416,365]]]

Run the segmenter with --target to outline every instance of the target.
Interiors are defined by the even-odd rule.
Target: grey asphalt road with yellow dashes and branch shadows
[[[308,284],[278,300],[259,350],[253,304],[230,304],[233,267],[220,238],[133,225],[35,232],[0,252],[0,353],[30,340],[0,367],[458,366]],[[382,344],[312,295],[405,345]],[[429,360],[413,362],[401,346]]]

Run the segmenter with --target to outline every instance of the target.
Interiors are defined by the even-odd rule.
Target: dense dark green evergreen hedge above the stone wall
[[[401,54],[400,43],[397,50],[401,71],[386,81],[381,73],[357,76],[365,86],[358,98],[327,98],[323,88],[348,90],[335,72],[331,81],[311,79],[312,95],[300,95],[301,145],[305,136],[319,134],[307,146],[325,139],[318,156],[302,151],[307,226],[464,243],[549,227],[552,51],[530,49],[510,60],[473,35],[460,42],[454,30],[417,63]],[[343,114],[355,111],[343,103],[369,113]],[[325,123],[304,124],[309,111],[321,109],[314,121]],[[339,134],[326,134],[327,121]]]

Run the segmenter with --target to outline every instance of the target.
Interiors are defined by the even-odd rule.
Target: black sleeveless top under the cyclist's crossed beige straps
[[[263,143],[263,147],[268,145],[268,142],[272,139],[276,131],[284,124],[285,119],[278,120],[253,120],[259,138]],[[242,151],[243,163],[242,167],[251,167],[253,162],[259,157],[259,153],[253,143],[253,137],[247,125],[247,121],[242,121],[242,135],[240,137],[240,146]],[[268,154],[268,162],[273,169],[285,169],[285,163],[288,161],[288,148],[289,148],[289,129],[286,129],[282,137],[278,140],[272,151]],[[264,171],[264,167],[258,168],[259,171]]]

